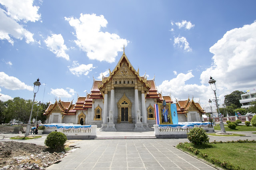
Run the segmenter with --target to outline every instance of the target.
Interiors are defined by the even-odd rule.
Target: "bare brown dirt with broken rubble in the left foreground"
[[[64,152],[50,153],[47,150],[46,146],[36,144],[15,141],[0,142],[0,169],[44,170],[64,156]]]

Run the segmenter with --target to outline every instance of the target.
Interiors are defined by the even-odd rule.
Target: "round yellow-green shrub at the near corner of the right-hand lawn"
[[[192,143],[192,144],[202,144],[202,143],[206,143],[209,142],[209,138],[205,132],[204,129],[202,128],[192,128],[188,133],[188,140]]]

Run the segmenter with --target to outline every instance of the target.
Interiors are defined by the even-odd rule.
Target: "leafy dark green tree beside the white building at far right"
[[[244,94],[242,91],[233,91],[229,95],[225,96],[224,103],[226,106],[231,106],[232,104],[236,105],[236,108],[241,107],[242,104],[239,102],[241,100],[241,94]]]

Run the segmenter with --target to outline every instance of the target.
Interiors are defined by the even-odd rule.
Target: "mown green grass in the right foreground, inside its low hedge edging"
[[[241,169],[256,170],[256,144],[255,143],[220,143],[220,144],[202,144],[196,146],[192,143],[186,143],[186,146],[192,146],[201,153],[207,154],[205,158],[209,161],[212,157],[220,162],[230,162],[232,165],[239,166]],[[176,146],[187,151],[179,144]],[[198,154],[200,158],[200,154]],[[210,161],[209,161],[210,162]]]

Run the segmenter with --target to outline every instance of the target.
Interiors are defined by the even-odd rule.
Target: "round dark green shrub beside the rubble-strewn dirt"
[[[66,134],[62,132],[50,132],[44,141],[44,144],[50,149],[56,150],[57,148],[64,148],[64,144],[67,141]]]

